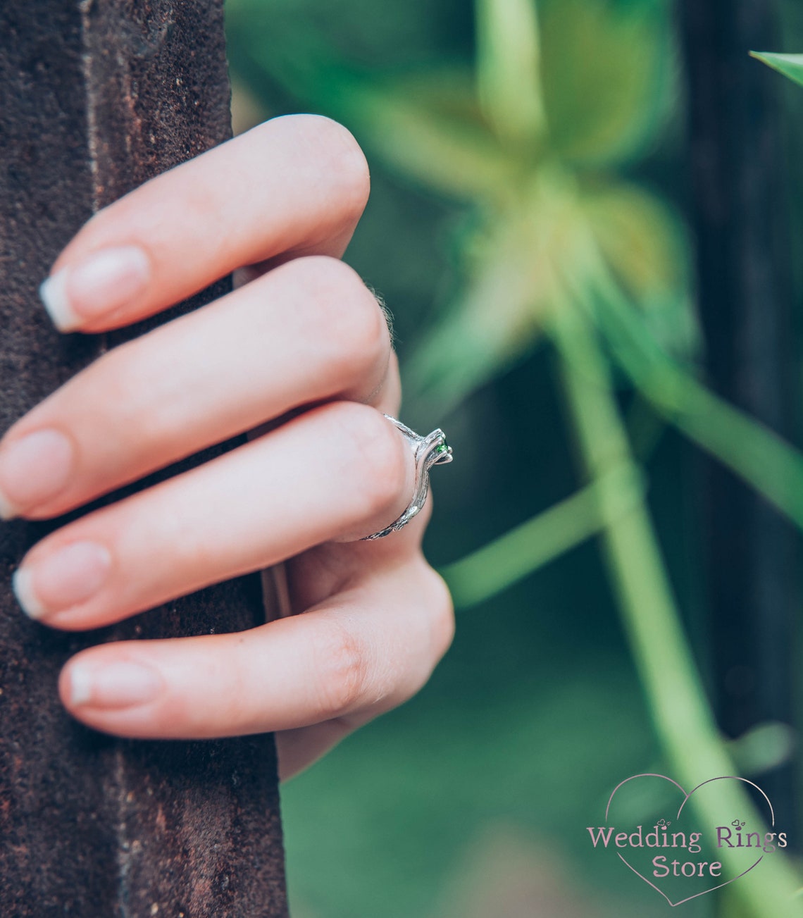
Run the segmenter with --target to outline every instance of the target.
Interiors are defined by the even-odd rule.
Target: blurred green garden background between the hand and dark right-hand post
[[[789,755],[782,730],[722,748],[688,668],[708,652],[692,443],[798,523],[782,485],[803,481],[698,382],[675,10],[227,0],[227,19],[236,129],[317,111],[366,151],[346,260],[394,314],[403,420],[455,453],[426,542],[455,642],[284,786],[293,914],[664,914],[588,843],[610,790],[684,780],[706,750],[753,775]]]

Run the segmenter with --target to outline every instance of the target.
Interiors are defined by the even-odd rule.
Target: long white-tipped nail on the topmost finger
[[[124,245],[51,274],[39,287],[39,297],[56,328],[72,331],[125,306],[150,279],[148,255],[139,246]]]

